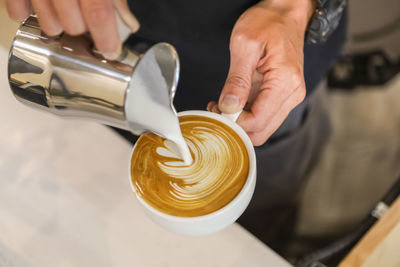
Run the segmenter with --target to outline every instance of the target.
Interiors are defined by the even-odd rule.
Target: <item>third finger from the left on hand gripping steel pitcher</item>
[[[52,0],[57,16],[64,31],[70,35],[82,34],[86,31],[78,0]]]

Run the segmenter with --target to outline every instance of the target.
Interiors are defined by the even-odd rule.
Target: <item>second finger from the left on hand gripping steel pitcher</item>
[[[62,33],[63,28],[51,0],[32,0],[32,6],[38,17],[40,28],[47,35],[54,36]]]

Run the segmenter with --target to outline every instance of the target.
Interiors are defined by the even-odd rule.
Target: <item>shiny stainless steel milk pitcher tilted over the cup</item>
[[[151,77],[151,73],[143,73],[146,68],[138,68],[149,60],[149,52],[161,70],[168,105],[174,111],[179,59],[173,46],[158,43],[144,54],[125,47],[118,60],[108,61],[96,52],[89,35],[49,37],[35,16],[22,23],[16,33],[9,54],[8,79],[16,98],[25,104],[140,134],[146,129],[135,125],[135,118],[129,125],[126,107],[127,99],[140,97],[135,95],[132,81]]]

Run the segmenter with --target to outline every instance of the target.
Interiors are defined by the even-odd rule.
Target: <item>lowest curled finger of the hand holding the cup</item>
[[[281,126],[283,121],[287,118],[290,111],[292,111],[298,104],[304,100],[305,91],[296,91],[283,103],[278,112],[268,121],[266,127],[258,132],[248,132],[248,136],[254,146],[263,145],[268,138]]]

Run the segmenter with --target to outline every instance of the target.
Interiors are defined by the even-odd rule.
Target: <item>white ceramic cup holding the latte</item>
[[[191,110],[178,113],[178,116],[184,115],[198,115],[216,119],[232,128],[242,139],[246,146],[247,153],[249,155],[249,174],[247,176],[246,183],[244,184],[242,190],[239,194],[232,199],[224,207],[212,213],[197,216],[197,217],[178,217],[163,213],[144,201],[138,194],[135,193],[140,204],[144,207],[145,212],[150,216],[150,218],[161,225],[162,227],[179,234],[184,235],[205,235],[217,232],[230,224],[234,223],[244,210],[249,205],[251,197],[254,193],[254,188],[256,184],[256,156],[254,152],[253,144],[250,138],[247,136],[246,132],[238,126],[234,121],[208,111]],[[131,155],[135,150],[136,145],[133,147]],[[131,177],[131,166],[129,166],[129,177],[133,192],[135,191],[134,185],[132,183]]]

